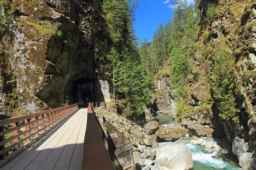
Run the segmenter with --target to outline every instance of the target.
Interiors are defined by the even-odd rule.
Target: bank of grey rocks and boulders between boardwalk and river
[[[188,133],[180,127],[163,127],[151,121],[144,127],[114,113],[104,118],[115,126],[133,145],[133,160],[137,169],[191,169],[192,153],[179,140]],[[181,159],[183,158],[183,159]]]

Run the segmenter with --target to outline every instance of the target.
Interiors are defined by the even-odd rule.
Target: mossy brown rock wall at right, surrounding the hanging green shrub
[[[197,133],[199,126],[203,125],[200,129],[211,128],[213,137],[227,138],[240,166],[255,169],[256,3],[201,0],[198,8],[201,13],[198,42],[202,43],[204,49],[199,47],[191,61],[192,72],[188,75],[185,89],[188,91],[187,107],[194,114],[187,114],[184,121],[191,121],[187,126]],[[226,44],[235,57],[234,96],[239,109],[239,121],[236,122],[224,121],[218,116],[208,84],[212,59],[203,53],[205,50],[217,51],[220,42]],[[193,128],[191,123],[198,127]]]

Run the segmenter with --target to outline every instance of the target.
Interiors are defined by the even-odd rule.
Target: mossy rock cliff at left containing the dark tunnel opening
[[[109,100],[100,1],[13,1],[11,9],[15,17],[0,42],[5,109]]]

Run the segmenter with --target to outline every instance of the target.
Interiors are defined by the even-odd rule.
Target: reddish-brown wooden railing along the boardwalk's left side
[[[78,104],[0,121],[0,165],[78,109]],[[30,145],[29,145],[30,146]],[[7,158],[8,157],[8,158]]]

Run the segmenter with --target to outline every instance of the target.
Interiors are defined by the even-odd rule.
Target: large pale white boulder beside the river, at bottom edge
[[[193,168],[192,153],[181,140],[160,143],[156,148],[156,160],[161,170]]]

